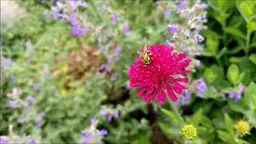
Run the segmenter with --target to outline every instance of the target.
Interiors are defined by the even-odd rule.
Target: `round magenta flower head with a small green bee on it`
[[[188,89],[180,82],[189,82],[189,79],[181,74],[190,73],[190,70],[184,70],[190,62],[190,58],[174,52],[172,47],[149,46],[142,56],[135,60],[135,64],[130,66],[130,87],[139,89],[138,97],[143,97],[144,102],[157,98],[157,102],[163,104],[167,96],[178,102],[176,94],[182,94],[183,90]]]

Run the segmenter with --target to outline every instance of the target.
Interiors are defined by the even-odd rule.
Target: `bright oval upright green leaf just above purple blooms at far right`
[[[240,70],[238,66],[235,64],[232,64],[227,69],[226,77],[231,83],[237,84],[239,82],[239,74],[240,74]]]

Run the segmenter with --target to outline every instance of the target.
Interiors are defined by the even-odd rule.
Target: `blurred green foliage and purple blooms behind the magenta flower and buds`
[[[193,59],[175,105],[198,143],[254,143],[255,31],[254,0],[1,0],[0,142],[191,143],[130,90],[146,43]]]

